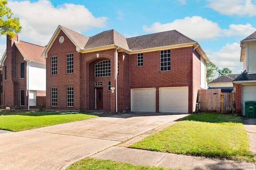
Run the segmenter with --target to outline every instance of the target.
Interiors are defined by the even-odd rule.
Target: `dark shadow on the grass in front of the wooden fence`
[[[208,123],[243,123],[242,118],[234,114],[222,113],[200,113],[190,115],[183,119],[183,121],[198,121]]]

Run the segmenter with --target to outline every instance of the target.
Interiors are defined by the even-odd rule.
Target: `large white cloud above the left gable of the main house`
[[[21,40],[47,45],[58,25],[83,32],[93,27],[106,26],[106,17],[94,17],[83,5],[62,4],[54,7],[49,0],[8,1],[14,16],[20,18]]]

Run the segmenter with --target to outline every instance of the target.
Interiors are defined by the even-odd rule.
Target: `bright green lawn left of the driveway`
[[[97,117],[86,113],[0,112],[0,129],[18,132]]]

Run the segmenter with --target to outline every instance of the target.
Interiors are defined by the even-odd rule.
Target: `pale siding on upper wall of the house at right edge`
[[[250,43],[247,47],[248,73],[256,73],[256,43]]]

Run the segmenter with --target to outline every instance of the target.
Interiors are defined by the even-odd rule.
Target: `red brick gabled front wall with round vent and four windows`
[[[60,43],[60,36],[64,36],[64,42]],[[67,74],[66,54],[73,53],[73,73]],[[51,75],[51,57],[57,56],[57,75]],[[46,58],[46,109],[80,109],[80,53],[69,38],[60,32],[48,51]],[[51,88],[57,87],[58,106],[51,106]],[[74,87],[74,107],[67,107],[66,87]]]

